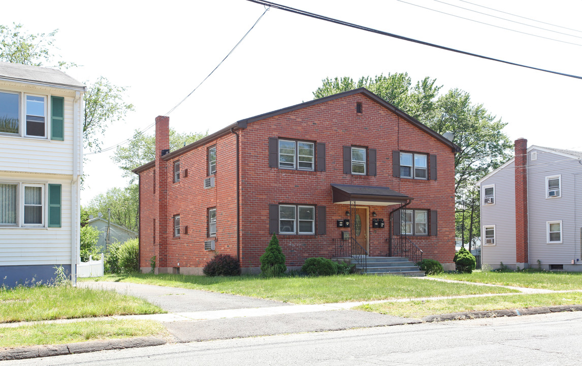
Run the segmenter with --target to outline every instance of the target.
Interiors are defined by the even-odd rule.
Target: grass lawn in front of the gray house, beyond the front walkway
[[[491,283],[502,286],[543,288],[545,290],[582,290],[582,272],[520,272],[473,271],[473,273],[441,273],[431,275],[441,279]]]

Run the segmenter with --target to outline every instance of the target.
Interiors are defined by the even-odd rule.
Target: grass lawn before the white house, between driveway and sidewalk
[[[66,286],[0,288],[0,323],[162,312],[141,298],[115,291]]]

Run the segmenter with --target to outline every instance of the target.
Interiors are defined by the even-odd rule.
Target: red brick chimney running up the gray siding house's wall
[[[515,140],[515,259],[524,269],[529,266],[527,235],[527,140]]]

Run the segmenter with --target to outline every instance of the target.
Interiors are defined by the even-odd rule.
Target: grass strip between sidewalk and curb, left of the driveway
[[[167,332],[161,323],[130,319],[35,324],[16,328],[0,328],[0,347],[63,344],[145,336],[165,337]]]

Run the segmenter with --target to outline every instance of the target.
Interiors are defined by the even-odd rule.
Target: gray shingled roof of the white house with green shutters
[[[83,83],[61,70],[0,62],[0,80],[85,90]]]

